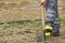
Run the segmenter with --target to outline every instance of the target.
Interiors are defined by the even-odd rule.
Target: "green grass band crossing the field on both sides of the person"
[[[61,24],[62,25],[65,25],[65,17],[61,17]],[[34,22],[30,22],[30,20],[16,20],[16,22],[8,22],[8,23],[4,23],[2,24],[3,26],[6,26],[6,27],[17,27],[17,26],[31,26],[31,27],[39,27],[41,26],[41,20],[34,20]]]

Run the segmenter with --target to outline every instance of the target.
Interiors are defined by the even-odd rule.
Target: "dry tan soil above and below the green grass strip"
[[[32,4],[30,2],[22,3],[9,3],[0,2],[0,22],[12,22],[12,20],[35,20],[41,19],[40,8],[32,8],[24,10],[22,6]],[[61,8],[63,9],[63,8]],[[60,11],[60,15],[62,13]],[[61,15],[62,16],[62,15]],[[17,26],[17,27],[4,27],[0,26],[0,42],[1,43],[37,43],[39,32],[36,29],[41,30],[41,26]],[[65,43],[65,27],[61,27],[61,35],[52,37],[52,43]],[[28,30],[28,31],[27,31]]]

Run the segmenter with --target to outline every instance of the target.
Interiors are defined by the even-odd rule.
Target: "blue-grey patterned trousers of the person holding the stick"
[[[53,33],[58,33],[60,19],[57,12],[57,0],[47,0],[46,11],[46,25],[50,25],[53,27]]]

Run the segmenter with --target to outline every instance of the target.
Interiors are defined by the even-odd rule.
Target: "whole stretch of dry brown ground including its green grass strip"
[[[37,3],[37,2],[36,2]],[[22,9],[35,2],[0,2],[0,42],[1,43],[37,43],[42,41],[40,8]],[[60,8],[61,35],[52,37],[52,43],[65,42],[65,13]],[[62,15],[63,14],[63,15]]]

